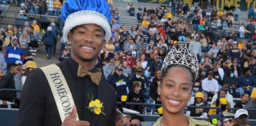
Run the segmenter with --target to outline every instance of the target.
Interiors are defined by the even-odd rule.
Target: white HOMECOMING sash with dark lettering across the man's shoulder
[[[68,116],[73,110],[73,105],[75,105],[68,83],[66,82],[60,67],[56,64],[51,64],[49,66],[42,67],[41,69],[51,87],[61,122],[63,123],[66,116]],[[74,120],[79,120],[78,114],[75,116]]]

